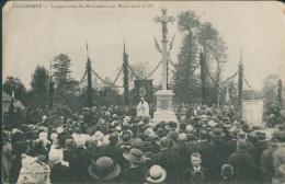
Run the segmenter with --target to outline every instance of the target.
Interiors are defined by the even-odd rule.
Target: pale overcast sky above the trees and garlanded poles
[[[3,80],[18,77],[27,89],[36,65],[49,69],[49,60],[58,54],[70,57],[72,77],[80,80],[86,69],[87,41],[92,68],[102,77],[116,77],[123,62],[124,39],[130,65],[148,62],[150,69],[155,68],[161,55],[153,36],[160,43],[161,24],[156,24],[153,18],[161,15],[163,7],[175,19],[181,11],[193,10],[202,15],[202,22],[212,22],[228,46],[225,78],[238,70],[242,47],[244,76],[253,89],[261,90],[270,73],[282,73],[285,79],[285,5],[278,2],[42,2],[49,7],[42,9],[13,9],[12,3],[3,12]],[[59,3],[153,7],[50,8]],[[168,24],[168,39],[175,34],[170,54],[173,62],[178,62],[183,36],[176,23]],[[161,70],[152,76],[155,83],[161,80]],[[123,76],[117,82],[122,84]]]

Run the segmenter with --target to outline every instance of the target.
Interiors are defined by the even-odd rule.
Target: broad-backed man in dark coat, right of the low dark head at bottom
[[[238,183],[251,183],[255,174],[254,160],[246,151],[247,143],[244,140],[238,140],[237,151],[229,157],[228,163],[232,165],[233,179]]]

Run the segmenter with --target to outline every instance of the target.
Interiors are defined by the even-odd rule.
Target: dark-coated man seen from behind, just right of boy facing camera
[[[202,166],[209,171],[209,180],[216,181],[219,177],[218,162],[218,151],[217,147],[207,141],[209,134],[206,130],[200,131],[201,142],[197,143],[197,152],[201,153],[203,158]]]

